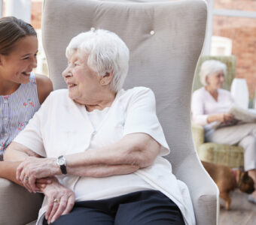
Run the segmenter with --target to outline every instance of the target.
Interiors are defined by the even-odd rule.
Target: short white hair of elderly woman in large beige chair
[[[72,38],[66,48],[66,57],[70,58],[77,50],[88,56],[87,65],[98,76],[113,73],[110,86],[114,92],[122,89],[128,73],[130,52],[117,34],[103,29],[83,32]]]

